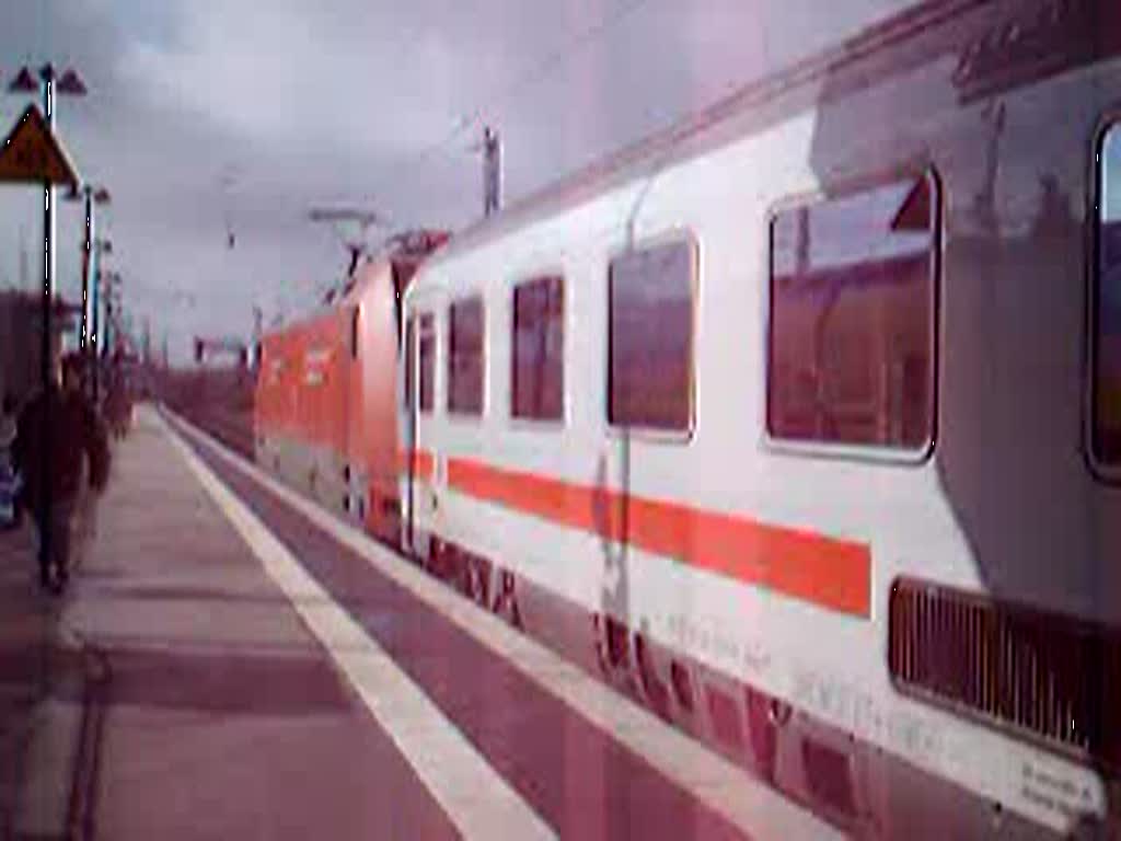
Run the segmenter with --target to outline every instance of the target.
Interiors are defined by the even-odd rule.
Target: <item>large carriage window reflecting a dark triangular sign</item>
[[[934,415],[937,183],[802,205],[771,224],[771,437],[917,450]]]

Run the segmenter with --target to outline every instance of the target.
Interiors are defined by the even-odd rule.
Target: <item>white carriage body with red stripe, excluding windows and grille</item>
[[[700,684],[758,691],[780,733],[767,775],[842,825],[897,834],[915,815],[937,825],[941,810],[947,830],[1023,821],[1062,832],[1081,816],[1115,820],[1115,770],[904,685],[889,668],[890,600],[898,582],[919,580],[1106,636],[1121,626],[1121,493],[1095,473],[1086,443],[1094,150],[1121,104],[1121,61],[1032,75],[1010,54],[1006,70],[1020,76],[984,89],[963,70],[967,46],[1009,21],[1027,29],[1035,18],[1025,15],[1051,6],[937,13],[949,6],[932,3],[832,65],[810,62],[504,211],[428,262],[404,308],[414,383],[421,316],[435,339],[432,410],[415,405],[419,388],[406,389],[406,542],[423,555],[438,546],[485,558],[518,588],[599,617],[587,634],[601,647],[610,617],[629,629],[632,665],[638,636],[660,653],[666,685],[679,658],[708,675]],[[781,440],[768,432],[772,222],[924,174],[934,209],[929,442]],[[1046,215],[1056,207],[1066,216]],[[609,265],[679,241],[695,258],[687,429],[614,426]],[[528,420],[510,410],[513,288],[541,276],[563,277],[563,414]],[[474,296],[483,405],[463,415],[448,410],[448,313]],[[580,514],[589,500],[595,510]],[[682,540],[683,556],[656,548]],[[524,614],[536,603],[526,599]],[[679,697],[667,703],[666,718],[686,718],[674,711]],[[750,745],[756,722],[738,704]],[[719,704],[700,706],[717,715]],[[847,794],[823,793],[807,740],[842,757]],[[925,779],[964,792],[972,816],[955,824],[937,786],[924,813],[904,789]]]

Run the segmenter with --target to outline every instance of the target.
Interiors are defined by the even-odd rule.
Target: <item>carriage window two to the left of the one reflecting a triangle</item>
[[[559,419],[564,413],[564,280],[538,277],[513,289],[510,413]]]

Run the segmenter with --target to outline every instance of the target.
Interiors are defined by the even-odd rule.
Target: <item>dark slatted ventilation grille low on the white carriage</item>
[[[1121,634],[900,580],[888,664],[902,688],[1121,767]]]

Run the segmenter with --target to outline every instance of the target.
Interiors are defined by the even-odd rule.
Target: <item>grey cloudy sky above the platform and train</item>
[[[182,359],[192,334],[245,335],[254,304],[291,317],[339,277],[313,205],[392,229],[476,218],[481,120],[517,198],[911,1],[0,0],[0,84],[47,59],[84,77],[59,135],[112,192],[136,323]],[[0,96],[0,126],[26,104]],[[38,277],[39,201],[0,186],[0,287]],[[82,224],[64,205],[64,294]]]

